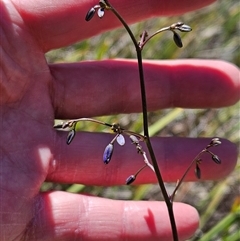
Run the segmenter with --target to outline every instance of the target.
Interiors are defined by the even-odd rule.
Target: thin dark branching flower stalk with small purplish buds
[[[143,48],[146,45],[146,43],[148,43],[154,36],[156,36],[162,32],[166,32],[166,31],[170,31],[173,33],[173,40],[174,40],[175,44],[181,48],[183,46],[183,44],[182,44],[181,37],[177,33],[177,31],[190,32],[192,29],[190,26],[188,26],[182,22],[177,22],[168,27],[161,28],[151,35],[149,35],[147,33],[147,31],[143,31],[143,33],[140,36],[140,41],[138,42],[136,40],[134,34],[132,33],[130,27],[126,23],[126,21],[122,18],[122,16],[118,13],[118,11],[109,3],[108,0],[100,0],[98,5],[95,5],[88,11],[88,13],[85,17],[85,20],[90,21],[96,13],[99,18],[102,18],[105,15],[105,11],[111,11],[119,19],[119,21],[122,23],[122,25],[128,32],[128,34],[135,46],[135,49],[136,49],[139,82],[140,82],[140,90],[141,90],[144,134],[141,135],[141,134],[129,131],[129,130],[125,130],[119,124],[115,124],[115,123],[109,124],[109,123],[105,123],[105,122],[91,119],[91,118],[79,118],[79,119],[69,120],[69,121],[63,122],[62,124],[55,125],[54,128],[70,129],[68,136],[67,136],[67,144],[70,144],[73,141],[73,138],[75,137],[76,131],[77,131],[76,125],[77,125],[77,123],[79,123],[81,121],[94,122],[94,123],[97,123],[100,125],[105,125],[105,126],[111,128],[111,130],[116,135],[114,136],[112,141],[106,146],[106,148],[103,152],[103,162],[105,164],[108,164],[112,158],[113,151],[114,151],[114,143],[117,142],[119,145],[123,146],[125,144],[125,139],[124,139],[123,134],[129,135],[129,137],[132,141],[132,144],[134,144],[136,146],[137,152],[143,156],[144,165],[135,174],[130,175],[126,179],[126,184],[127,185],[132,184],[136,180],[139,173],[146,167],[149,167],[155,173],[157,180],[158,180],[159,187],[161,189],[161,192],[163,194],[163,197],[164,197],[164,200],[165,200],[165,203],[167,206],[169,219],[170,219],[170,223],[171,223],[171,228],[172,228],[173,240],[178,241],[178,231],[177,231],[177,226],[176,226],[174,212],[173,212],[173,201],[174,201],[176,192],[179,189],[180,185],[183,183],[186,175],[189,173],[189,171],[191,170],[193,165],[195,165],[196,177],[198,179],[201,178],[200,164],[202,162],[201,156],[203,155],[203,153],[207,153],[207,154],[211,155],[211,158],[215,163],[217,163],[217,164],[221,163],[221,160],[219,159],[219,157],[217,155],[215,155],[212,151],[209,150],[210,148],[212,148],[214,146],[220,145],[221,141],[219,140],[219,138],[213,138],[211,140],[211,142],[202,151],[200,151],[198,153],[198,155],[192,160],[192,162],[190,163],[190,165],[188,166],[188,168],[182,175],[181,179],[177,182],[177,185],[176,185],[174,191],[172,192],[172,194],[169,195],[166,190],[166,187],[164,185],[164,180],[162,178],[161,171],[158,167],[157,159],[156,159],[156,156],[155,156],[155,153],[154,153],[154,150],[152,147],[152,143],[150,140],[150,136],[149,136],[147,97],[146,97],[146,88],[145,88],[145,79],[144,79],[142,51],[143,51]],[[143,150],[142,146],[139,144],[140,141],[144,141],[146,143],[151,162],[148,160],[146,152]]]

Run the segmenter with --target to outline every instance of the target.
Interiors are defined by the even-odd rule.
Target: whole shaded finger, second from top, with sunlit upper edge
[[[136,61],[51,65],[56,118],[141,111]],[[239,100],[239,69],[215,60],[146,61],[148,109],[218,108]]]

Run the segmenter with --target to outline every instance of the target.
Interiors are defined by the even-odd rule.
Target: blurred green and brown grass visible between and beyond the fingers
[[[131,25],[133,33],[149,33],[159,26],[182,21],[194,31],[181,33],[184,47],[179,49],[166,33],[153,38],[143,51],[147,59],[202,58],[221,59],[240,66],[240,3],[239,0],[217,1],[211,6],[184,16],[156,18]],[[160,43],[160,44],[159,44]],[[104,33],[75,45],[47,53],[50,63],[100,60],[108,58],[135,58],[135,49],[124,29]],[[164,118],[163,118],[164,117]],[[141,132],[141,114],[104,116],[98,119],[113,123],[116,119],[127,129]],[[240,103],[221,109],[165,109],[150,114],[150,126],[155,135],[227,138],[240,144]],[[84,131],[102,131],[102,126],[85,123]],[[101,157],[100,157],[101,159]],[[101,161],[100,161],[101,164]],[[100,165],[99,164],[99,165]],[[125,180],[123,180],[124,183]],[[199,230],[190,239],[240,240],[240,158],[235,171],[226,179],[213,182],[184,183],[177,201],[189,203],[200,214]],[[176,184],[167,184],[171,189]],[[44,183],[43,191],[65,190],[91,193],[100,197],[122,200],[162,200],[158,185],[96,187],[81,184]]]

